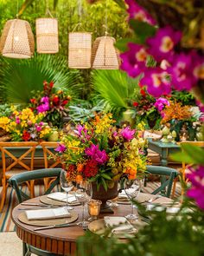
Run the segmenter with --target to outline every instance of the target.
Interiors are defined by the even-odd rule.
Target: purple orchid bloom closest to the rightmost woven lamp
[[[120,69],[126,71],[128,75],[136,77],[146,68],[148,54],[143,46],[136,43],[128,43],[128,48],[129,50],[120,55],[122,59]]]

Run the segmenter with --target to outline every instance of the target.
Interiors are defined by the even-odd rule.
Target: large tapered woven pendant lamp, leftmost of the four
[[[14,19],[5,23],[0,41],[3,56],[26,59],[33,56],[34,49],[34,35],[27,21]]]

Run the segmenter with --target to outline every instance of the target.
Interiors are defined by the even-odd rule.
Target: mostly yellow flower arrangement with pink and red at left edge
[[[44,115],[30,108],[21,111],[13,108],[12,114],[0,117],[0,128],[10,133],[12,141],[41,141],[48,138],[51,128],[42,121]]]

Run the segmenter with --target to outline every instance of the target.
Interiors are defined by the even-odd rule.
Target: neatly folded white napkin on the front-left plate
[[[66,207],[26,211],[28,220],[48,220],[71,217]]]

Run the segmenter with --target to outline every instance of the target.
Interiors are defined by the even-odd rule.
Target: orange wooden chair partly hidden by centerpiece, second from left
[[[41,148],[43,150],[43,158],[44,158],[44,167],[45,168],[54,168],[54,167],[61,167],[61,161],[56,159],[54,148],[57,148],[58,142],[52,141],[43,141],[41,142]],[[44,179],[44,187],[45,190],[48,189],[50,184],[52,183],[52,178],[45,178]]]

